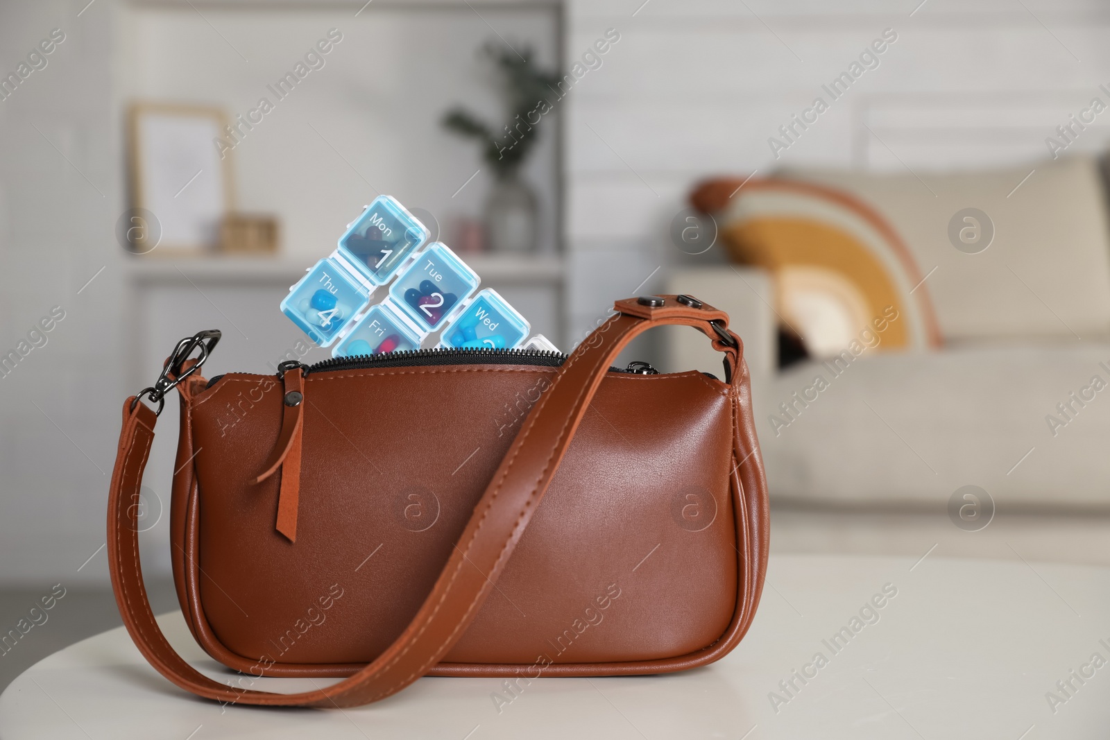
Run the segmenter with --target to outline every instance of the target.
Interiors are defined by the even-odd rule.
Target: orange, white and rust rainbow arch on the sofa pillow
[[[692,200],[739,263],[770,272],[784,328],[810,356],[924,349],[940,334],[924,275],[890,226],[839,191],[786,180],[714,180]]]

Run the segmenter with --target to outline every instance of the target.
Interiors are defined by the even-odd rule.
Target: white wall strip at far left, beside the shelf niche
[[[78,568],[104,543],[124,393],[111,4],[78,17],[83,4],[0,8],[4,74],[51,29],[65,33],[46,69],[0,101],[2,352],[51,306],[65,312],[48,343],[0,378],[0,579],[34,585],[107,577],[102,551],[99,566]]]

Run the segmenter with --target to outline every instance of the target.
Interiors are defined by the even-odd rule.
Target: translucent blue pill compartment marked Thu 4
[[[337,262],[317,262],[281,302],[281,311],[313,342],[330,346],[344,326],[370,303],[371,290]]]

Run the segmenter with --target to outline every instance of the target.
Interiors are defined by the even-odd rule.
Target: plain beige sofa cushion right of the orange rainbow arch
[[[840,189],[886,217],[921,273],[937,268],[918,290],[929,292],[946,341],[1106,336],[1110,227],[1097,163],[1068,158],[1036,164],[1015,191],[1033,169],[922,172],[920,179],[818,170],[781,176]],[[949,222],[968,207],[993,223],[990,246],[977,254],[949,239]]]

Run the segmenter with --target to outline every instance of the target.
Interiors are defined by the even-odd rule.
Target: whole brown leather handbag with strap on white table
[[[568,357],[415,351],[205,381],[219,332],[182,339],[123,406],[108,504],[143,656],[223,702],[351,707],[425,675],[627,676],[727,655],[767,564],[743,345],[690,296],[615,308]],[[725,379],[610,367],[663,324],[706,334]],[[174,581],[193,637],[240,672],[225,683],[165,640],[139,566],[157,420],[139,399],[160,412],[172,387]],[[347,678],[281,695],[251,688],[261,676]]]

